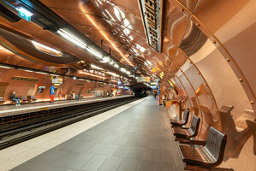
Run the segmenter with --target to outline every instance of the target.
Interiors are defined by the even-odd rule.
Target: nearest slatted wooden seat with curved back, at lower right
[[[216,167],[223,162],[227,135],[210,127],[204,146],[179,145],[182,161],[188,166]]]

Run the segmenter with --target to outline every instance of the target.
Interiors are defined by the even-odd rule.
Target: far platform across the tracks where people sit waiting
[[[0,106],[0,117],[8,116],[8,115],[19,115],[27,112],[35,112],[43,109],[56,109],[62,107],[68,107],[72,105],[79,105],[85,103],[93,103],[100,101],[107,101],[110,99],[122,98],[122,97],[131,97],[131,95],[123,95],[117,97],[102,97],[102,98],[86,98],[79,100],[64,100],[64,101],[56,101],[54,103],[25,103],[21,104],[21,106],[14,105],[1,105]]]

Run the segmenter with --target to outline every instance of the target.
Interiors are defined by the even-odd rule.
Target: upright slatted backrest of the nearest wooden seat
[[[204,148],[211,155],[215,165],[223,162],[226,143],[227,135],[217,131],[214,127],[210,127]]]

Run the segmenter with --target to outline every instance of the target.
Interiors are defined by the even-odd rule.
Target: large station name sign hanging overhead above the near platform
[[[140,0],[148,44],[161,53],[164,0]]]

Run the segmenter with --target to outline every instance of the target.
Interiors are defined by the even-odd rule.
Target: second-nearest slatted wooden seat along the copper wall
[[[190,127],[173,127],[173,134],[176,138],[190,139],[198,134],[200,118],[193,115]]]

